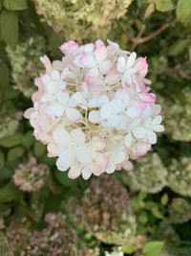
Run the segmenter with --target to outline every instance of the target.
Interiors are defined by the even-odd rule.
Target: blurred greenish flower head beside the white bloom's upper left
[[[7,46],[15,88],[27,97],[34,91],[33,79],[42,69],[39,57],[45,50],[46,42],[41,36],[30,37],[16,46]]]

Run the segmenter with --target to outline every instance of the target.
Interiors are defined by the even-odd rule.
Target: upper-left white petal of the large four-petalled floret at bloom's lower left
[[[56,128],[53,130],[53,140],[62,148],[66,148],[71,145],[71,136],[64,128]]]

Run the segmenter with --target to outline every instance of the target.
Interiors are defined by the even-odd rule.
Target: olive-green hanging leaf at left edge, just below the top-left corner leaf
[[[14,45],[18,39],[18,14],[17,12],[1,12],[1,34],[3,40]]]

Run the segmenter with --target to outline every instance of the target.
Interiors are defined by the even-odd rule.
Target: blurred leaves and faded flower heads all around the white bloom
[[[109,38],[147,56],[165,132],[132,172],[70,180],[34,141],[39,57]],[[0,0],[0,255],[191,255],[191,0]]]

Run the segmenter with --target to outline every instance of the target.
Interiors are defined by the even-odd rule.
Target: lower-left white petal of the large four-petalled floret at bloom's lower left
[[[70,150],[62,151],[59,155],[56,166],[60,171],[67,171],[71,167],[71,163],[74,160],[74,152]]]

